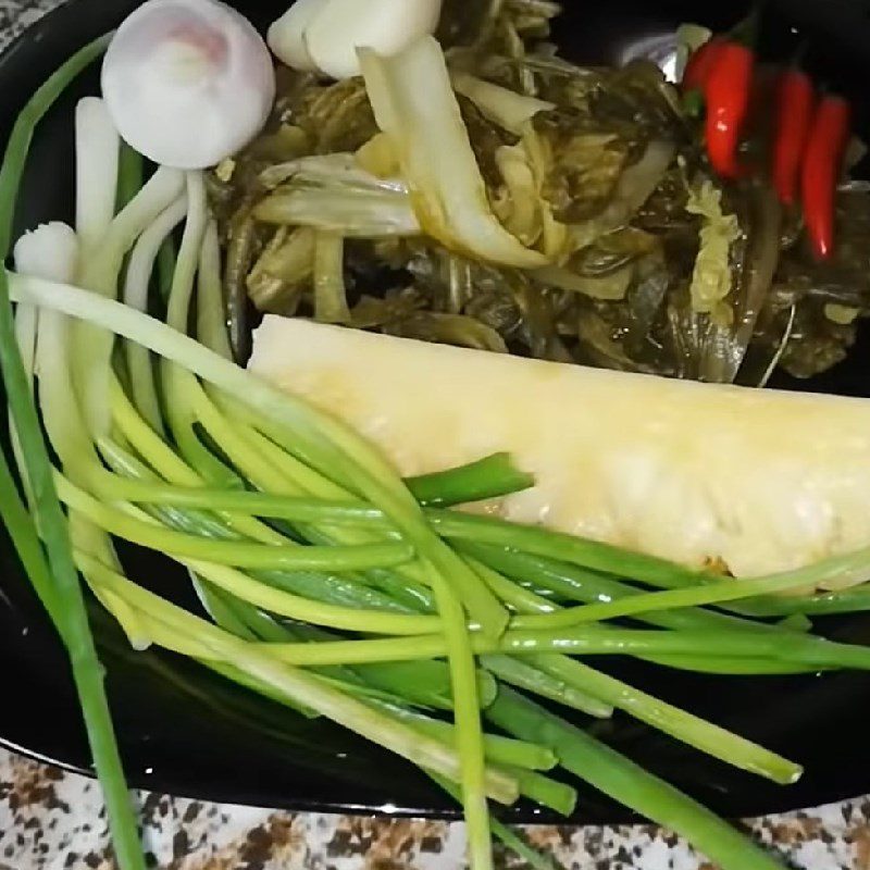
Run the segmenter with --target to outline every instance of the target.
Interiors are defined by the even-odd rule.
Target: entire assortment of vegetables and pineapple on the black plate
[[[830,368],[866,311],[843,107],[773,185],[729,181],[759,146],[745,94],[710,161],[654,65],[558,57],[554,3],[448,4],[436,30],[437,4],[373,8],[290,10],[273,105],[237,12],[150,0],[33,95],[0,169],[5,257],[39,121],[108,47],[75,112],[74,222],[45,215],[0,271],[0,515],[70,654],[119,866],[145,859],[84,587],[133,649],[414,763],[461,803],[473,870],[490,833],[549,867],[489,801],[570,816],[566,773],[723,870],[774,870],[587,725],[632,717],[790,785],[799,763],[600,658],[870,669],[810,619],[870,609],[867,401],[730,386]],[[709,103],[708,36],[681,28]],[[284,316],[246,370],[249,297]],[[125,543],[200,607],[128,574]]]

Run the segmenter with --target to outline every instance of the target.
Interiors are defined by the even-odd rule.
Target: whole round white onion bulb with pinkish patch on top
[[[251,23],[217,0],[148,0],[112,39],[102,92],[124,140],[156,163],[213,166],[263,127],[272,59]]]

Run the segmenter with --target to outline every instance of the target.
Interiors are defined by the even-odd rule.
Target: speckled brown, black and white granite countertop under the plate
[[[0,50],[62,0],[0,0]],[[2,712],[0,712],[2,716]],[[277,812],[141,793],[159,870],[459,870],[459,824]],[[870,870],[870,798],[749,823],[806,870]],[[526,829],[570,870],[714,870],[650,825]],[[512,867],[499,855],[499,867]],[[112,870],[97,785],[0,749],[0,870]]]

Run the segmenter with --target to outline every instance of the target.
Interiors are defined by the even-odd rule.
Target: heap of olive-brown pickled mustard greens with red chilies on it
[[[817,111],[816,84],[792,64],[774,133],[751,28],[683,28],[696,51],[678,87],[649,61],[559,57],[555,4],[496,5],[495,17],[448,10],[438,33],[461,39],[444,58],[420,39],[362,50],[361,77],[279,67],[266,127],[209,178],[241,357],[250,300],[707,382],[757,386],[842,361],[867,304],[870,208],[862,183],[838,184],[850,127],[825,107],[843,100]],[[717,112],[731,114],[713,136]]]

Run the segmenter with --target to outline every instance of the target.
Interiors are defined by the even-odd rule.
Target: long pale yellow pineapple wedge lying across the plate
[[[250,368],[402,474],[508,450],[493,510],[759,575],[870,545],[870,401],[608,372],[268,316]]]

